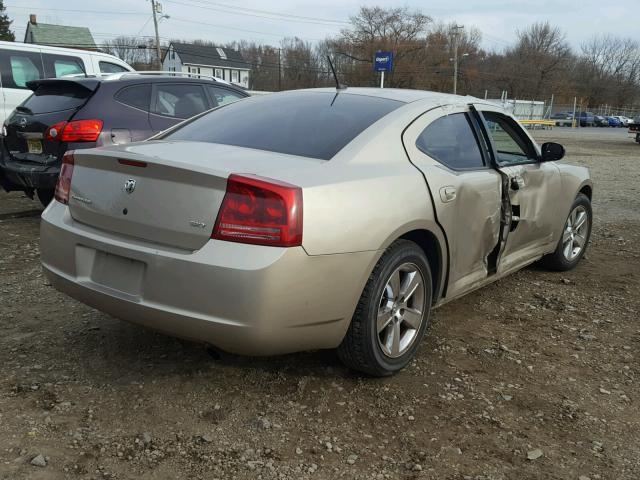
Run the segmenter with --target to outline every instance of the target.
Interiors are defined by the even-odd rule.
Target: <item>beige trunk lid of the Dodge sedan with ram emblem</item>
[[[151,141],[75,153],[72,217],[101,230],[185,250],[211,237],[227,178],[279,171],[314,160],[229,145]]]

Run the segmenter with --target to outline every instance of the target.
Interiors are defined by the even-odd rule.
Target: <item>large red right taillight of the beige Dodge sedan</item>
[[[302,189],[254,175],[230,175],[211,237],[277,247],[302,245]]]

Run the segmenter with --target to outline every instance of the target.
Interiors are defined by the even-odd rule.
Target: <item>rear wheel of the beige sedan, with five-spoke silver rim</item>
[[[401,370],[420,346],[431,298],[424,252],[411,241],[394,242],[373,269],[338,347],[342,362],[379,377]]]

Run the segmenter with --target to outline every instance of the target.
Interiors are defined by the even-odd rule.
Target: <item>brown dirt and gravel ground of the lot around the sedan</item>
[[[438,309],[386,379],[332,352],[214,359],[71,300],[37,203],[0,193],[0,478],[640,478],[640,146],[535,136],[592,170],[586,259]]]

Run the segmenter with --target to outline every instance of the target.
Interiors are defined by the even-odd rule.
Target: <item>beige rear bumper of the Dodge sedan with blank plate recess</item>
[[[216,240],[195,252],[163,249],[79,224],[55,201],[42,215],[40,242],[58,290],[117,318],[245,355],[338,346],[379,256]]]

